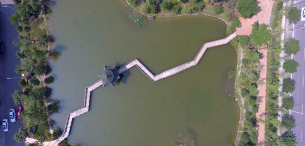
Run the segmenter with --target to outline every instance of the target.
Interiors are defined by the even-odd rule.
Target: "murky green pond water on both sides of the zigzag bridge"
[[[147,20],[130,24],[124,0],[55,0],[49,15],[53,49],[52,115],[64,128],[67,114],[83,106],[84,89],[99,79],[103,64],[123,65],[138,58],[154,74],[192,60],[204,42],[225,37],[225,23],[207,16]],[[152,82],[138,68],[124,72],[115,88],[92,91],[90,110],[74,118],[69,143],[107,146],[162,146],[191,129],[197,143],[231,145],[239,108],[225,94],[236,53],[229,44],[207,49],[198,65]],[[182,135],[183,136],[183,135]],[[181,137],[179,137],[181,139]],[[183,137],[182,137],[183,138]]]

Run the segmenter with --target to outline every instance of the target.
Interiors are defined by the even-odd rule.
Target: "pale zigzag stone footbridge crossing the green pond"
[[[168,70],[165,70],[159,74],[153,75],[138,59],[133,59],[130,62],[126,63],[125,65],[121,66],[120,68],[117,69],[118,74],[123,73],[124,71],[130,69],[133,66],[138,67],[151,81],[155,82],[158,81],[162,78],[171,76],[173,74],[176,74],[178,72],[181,72],[187,68],[190,68],[192,66],[195,66],[198,64],[198,62],[200,61],[201,57],[203,56],[204,52],[206,51],[207,48],[209,47],[214,47],[214,46],[218,46],[218,45],[223,45],[228,43],[230,40],[232,40],[234,37],[236,37],[236,33],[232,33],[231,35],[222,38],[222,39],[218,39],[218,40],[213,40],[213,41],[209,41],[209,42],[205,42],[203,43],[203,45],[201,46],[200,50],[198,51],[198,53],[196,54],[195,58],[191,61],[188,61],[186,63],[183,63],[181,65],[178,65],[176,67],[170,68]],[[52,141],[45,141],[43,142],[43,145],[58,145],[58,143],[60,141],[62,141],[63,139],[65,139],[71,132],[71,127],[72,127],[72,122],[73,122],[73,118],[76,116],[79,116],[83,113],[86,113],[89,111],[90,109],[90,98],[91,98],[91,91],[96,89],[97,87],[101,86],[102,82],[101,79],[95,81],[94,83],[92,83],[91,85],[87,86],[85,88],[85,94],[84,94],[84,103],[83,103],[83,107],[79,108],[73,112],[70,112],[67,116],[66,122],[65,122],[65,127],[64,127],[64,132],[55,140]],[[29,138],[27,137],[25,139],[25,143],[35,143],[37,141],[37,139],[34,138]]]

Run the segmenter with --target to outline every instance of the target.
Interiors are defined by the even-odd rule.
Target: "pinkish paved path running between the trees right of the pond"
[[[257,14],[251,18],[239,18],[241,22],[241,27],[236,29],[236,34],[238,35],[249,35],[252,31],[252,24],[258,20],[260,24],[265,23],[269,24],[271,12],[272,12],[272,0],[257,0],[257,4],[260,6]],[[262,66],[260,70],[259,81],[263,81],[263,84],[258,85],[257,90],[259,91],[257,98],[261,100],[258,105],[258,113],[256,113],[256,118],[264,119],[265,118],[265,97],[266,97],[266,71],[267,71],[267,50],[261,49],[259,53],[263,55],[263,58],[259,59],[259,63]],[[265,125],[263,123],[258,123],[258,146],[264,145],[264,133]]]

